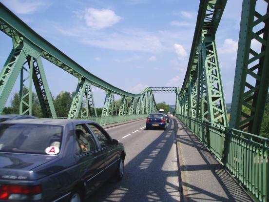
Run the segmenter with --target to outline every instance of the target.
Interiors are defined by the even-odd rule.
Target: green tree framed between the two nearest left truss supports
[[[74,93],[73,93],[74,94]],[[54,107],[57,117],[68,117],[69,109],[72,105],[73,94],[61,91],[54,100]]]

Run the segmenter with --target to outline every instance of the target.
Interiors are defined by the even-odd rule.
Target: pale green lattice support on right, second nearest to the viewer
[[[203,35],[201,42],[202,120],[227,126],[227,112],[214,35],[207,32],[206,35]],[[205,106],[207,109],[203,108]]]

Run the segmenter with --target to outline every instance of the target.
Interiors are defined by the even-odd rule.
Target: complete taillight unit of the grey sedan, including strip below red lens
[[[0,185],[0,199],[5,200],[40,200],[41,186],[24,186],[24,185]]]

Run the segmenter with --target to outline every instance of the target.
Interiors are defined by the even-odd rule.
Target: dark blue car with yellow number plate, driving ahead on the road
[[[166,130],[166,119],[163,113],[151,113],[147,117],[146,130],[150,128]]]

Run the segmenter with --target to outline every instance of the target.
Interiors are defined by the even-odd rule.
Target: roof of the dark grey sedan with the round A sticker
[[[1,124],[8,123],[23,123],[23,124],[49,124],[49,125],[67,125],[70,123],[81,124],[81,123],[96,123],[95,121],[90,120],[74,120],[74,119],[20,119],[20,120],[8,120],[4,121]]]

